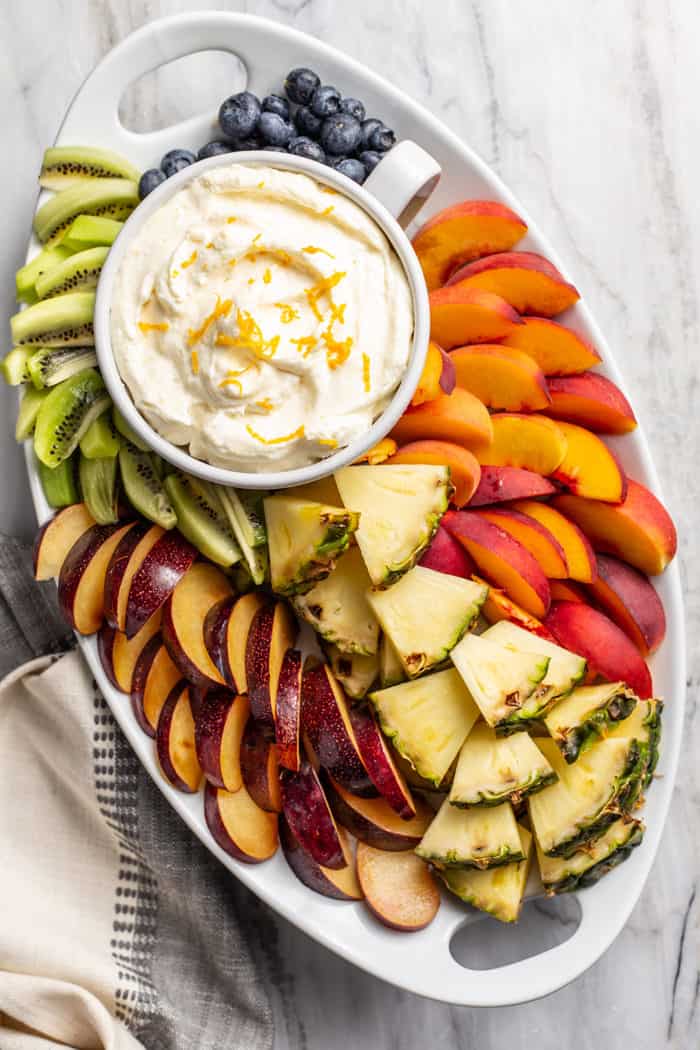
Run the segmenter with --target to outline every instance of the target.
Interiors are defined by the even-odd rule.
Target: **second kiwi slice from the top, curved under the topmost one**
[[[61,190],[34,216],[34,231],[42,244],[52,248],[63,231],[82,213],[123,219],[139,204],[139,186],[128,178],[91,178]]]

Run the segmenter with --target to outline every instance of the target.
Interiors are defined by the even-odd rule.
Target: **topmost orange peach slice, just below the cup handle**
[[[523,219],[496,201],[463,201],[443,208],[413,237],[428,291],[444,285],[455,266],[506,252],[527,231]]]

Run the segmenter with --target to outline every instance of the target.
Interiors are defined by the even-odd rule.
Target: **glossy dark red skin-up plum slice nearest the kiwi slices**
[[[129,588],[125,624],[128,638],[166,603],[197,556],[196,547],[176,529],[165,532],[151,547]]]

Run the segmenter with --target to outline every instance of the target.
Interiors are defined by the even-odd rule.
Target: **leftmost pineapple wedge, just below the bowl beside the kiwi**
[[[270,579],[277,594],[301,594],[333,571],[359,516],[343,507],[269,496],[263,501]]]

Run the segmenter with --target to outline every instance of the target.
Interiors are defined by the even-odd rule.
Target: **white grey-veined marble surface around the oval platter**
[[[0,312],[14,309],[43,147],[98,59],[144,21],[213,4],[0,4]],[[502,1010],[452,1009],[366,978],[284,923],[267,953],[279,1050],[691,1050],[700,1044],[700,169],[696,0],[251,0],[381,70],[464,136],[542,223],[608,333],[652,439],[681,536],[691,642],[675,805],[628,927],[573,986]],[[218,63],[163,75],[133,99],[168,118],[228,93]],[[199,76],[197,76],[197,74]],[[211,76],[210,76],[211,74]],[[153,91],[157,94],[153,94]],[[176,145],[176,144],[173,144]],[[28,492],[3,387],[0,527],[29,536]],[[674,698],[669,697],[673,704]],[[410,951],[407,939],[406,951]]]

